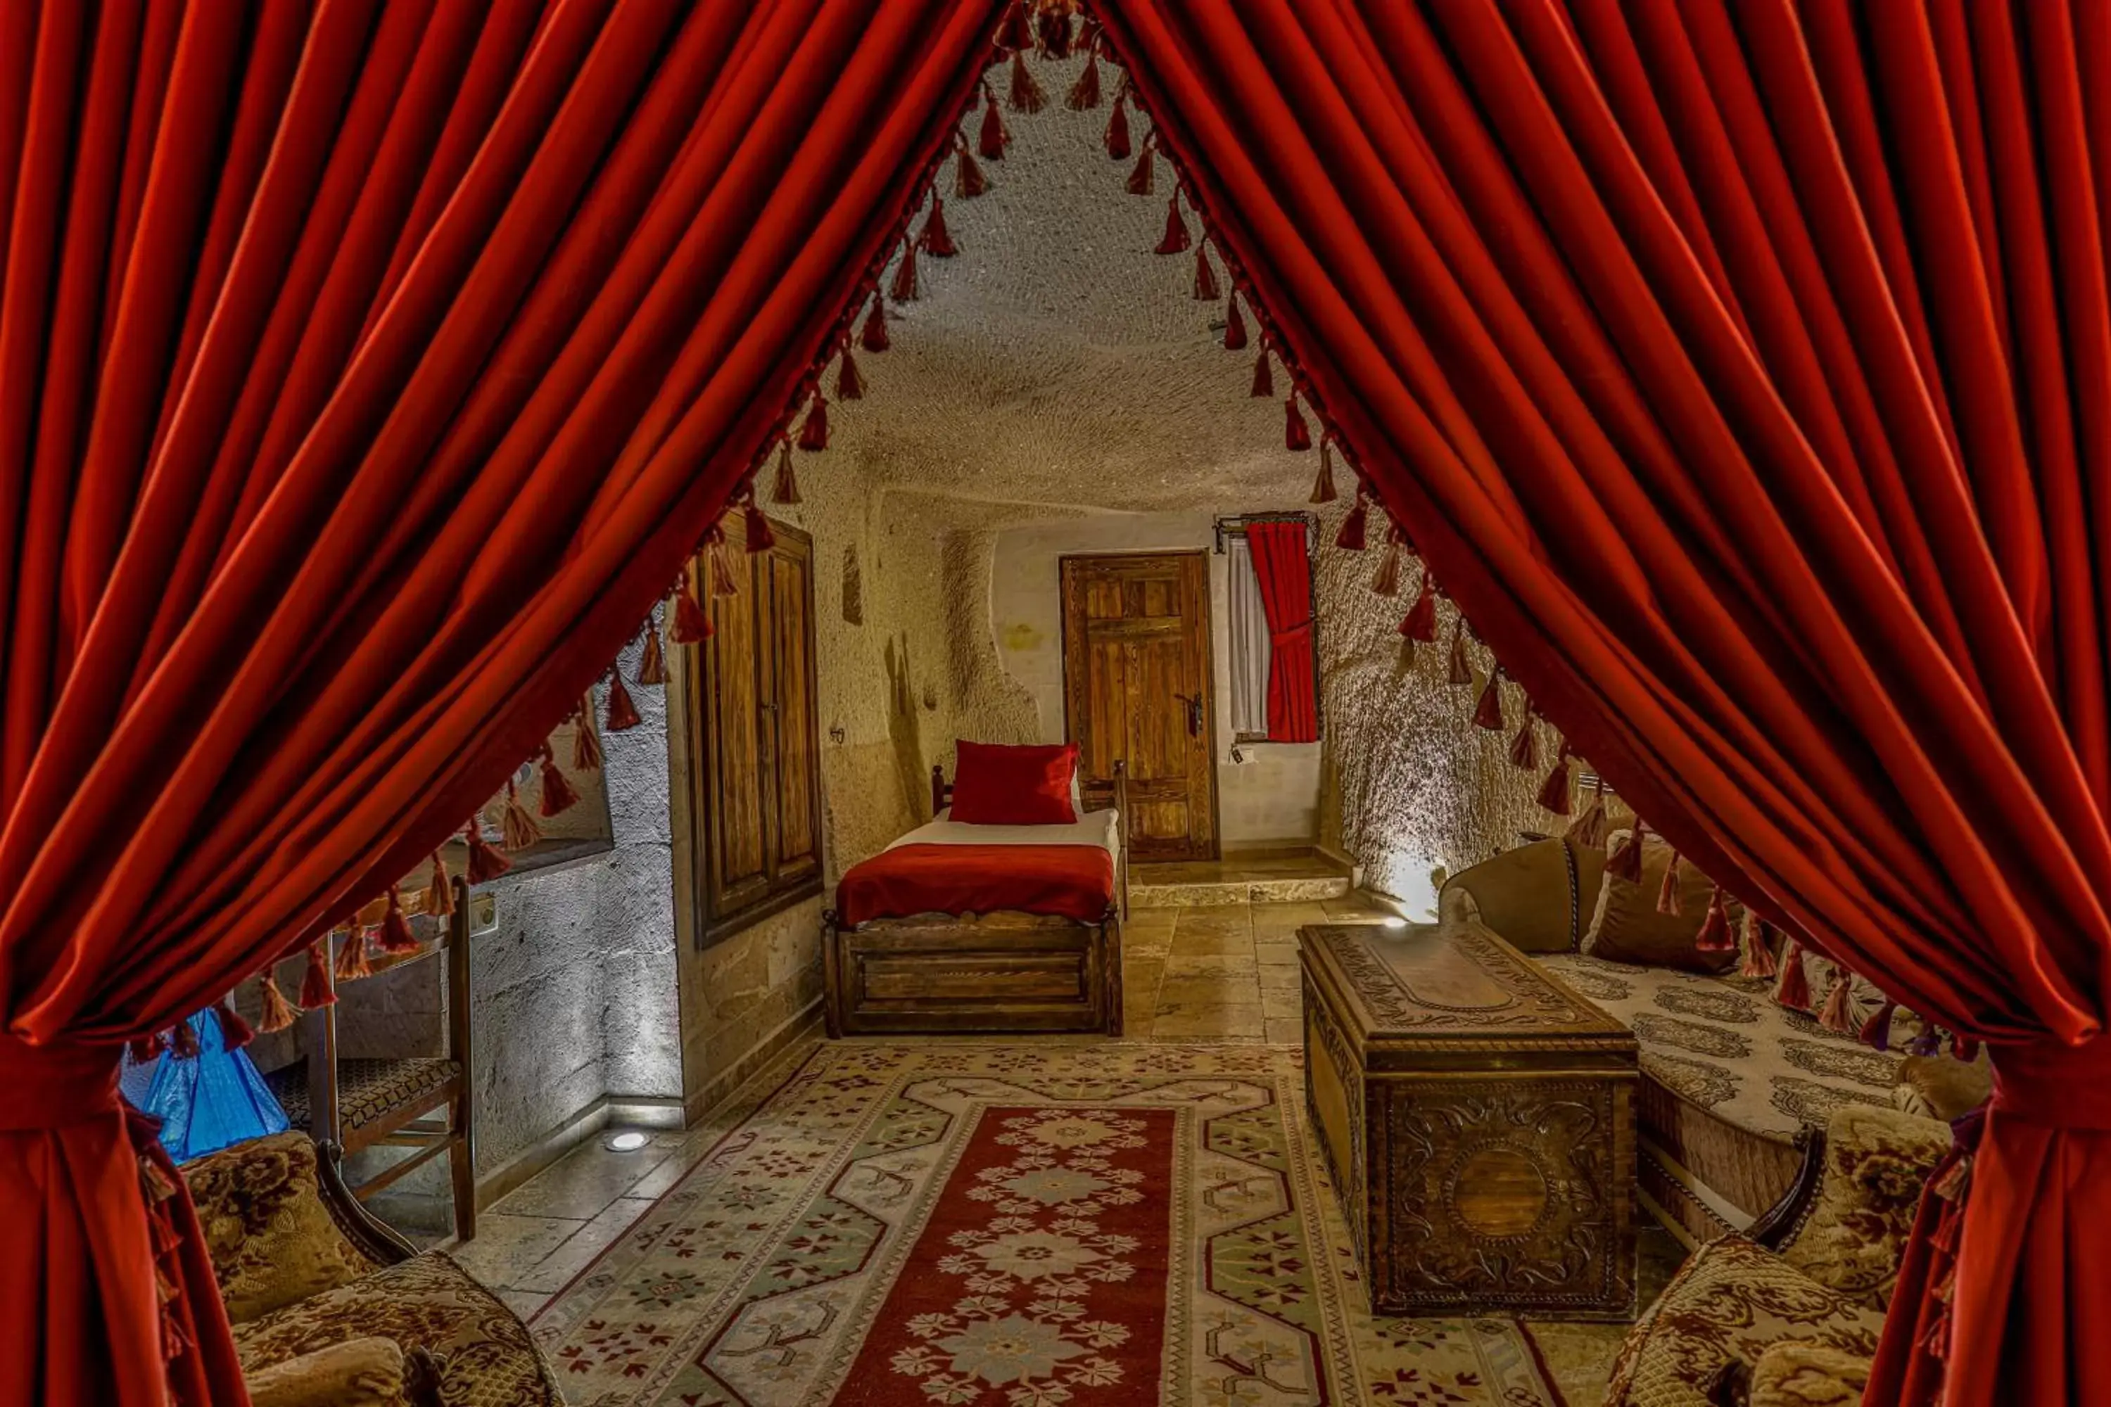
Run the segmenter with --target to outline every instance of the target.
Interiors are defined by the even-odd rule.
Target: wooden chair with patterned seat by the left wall
[[[270,1072],[266,1082],[296,1129],[346,1154],[386,1143],[416,1148],[353,1188],[365,1200],[439,1154],[454,1183],[454,1234],[477,1234],[477,1124],[471,1093],[469,884],[454,878],[445,934],[393,966],[445,960],[448,1051],[441,1057],[338,1059],[338,1008],[302,1013],[306,1057]],[[380,964],[376,964],[380,968]],[[357,991],[357,987],[353,989]]]

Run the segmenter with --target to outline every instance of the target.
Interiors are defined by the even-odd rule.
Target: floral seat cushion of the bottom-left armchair
[[[234,1327],[243,1371],[382,1335],[439,1361],[439,1407],[562,1407],[528,1327],[439,1251]]]

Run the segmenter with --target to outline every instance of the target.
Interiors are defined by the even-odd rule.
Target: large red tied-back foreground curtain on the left
[[[0,6],[0,1401],[245,1401],[118,1044],[564,717],[811,384],[994,15]]]

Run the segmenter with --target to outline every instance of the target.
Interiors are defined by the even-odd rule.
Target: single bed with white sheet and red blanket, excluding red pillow
[[[931,768],[933,821],[853,865],[823,913],[830,1036],[1121,1034],[1121,844],[1110,810],[1068,823],[969,825]]]

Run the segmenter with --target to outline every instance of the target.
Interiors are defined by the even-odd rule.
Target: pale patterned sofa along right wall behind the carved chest
[[[1984,1067],[1908,1059],[1824,1029],[1773,1000],[1769,979],[1606,962],[1579,951],[1606,856],[1537,840],[1452,875],[1448,920],[1478,920],[1625,1023],[1642,1048],[1638,1183],[1647,1209],[1689,1247],[1744,1232],[1815,1177],[1807,1131],[1841,1110],[1906,1107],[1955,1118],[1984,1099]],[[1811,960],[1826,991],[1828,964]],[[1853,989],[1853,1023],[1879,996]],[[1894,1040],[1917,1027],[1900,1019]]]

